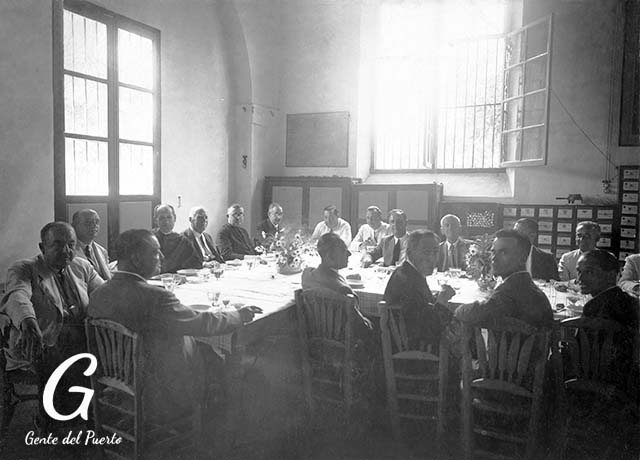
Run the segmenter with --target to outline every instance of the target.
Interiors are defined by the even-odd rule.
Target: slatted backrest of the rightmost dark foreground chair
[[[616,365],[624,365],[617,361],[617,350],[623,327],[620,323],[602,318],[569,318],[560,323],[563,330],[563,341],[567,344],[569,367],[567,377],[596,381],[611,381],[615,376],[625,375],[625,369],[617,369]],[[629,346],[632,346],[629,343]],[[632,350],[626,350],[629,356]],[[627,362],[626,365],[631,364]],[[624,382],[619,382],[624,384]]]

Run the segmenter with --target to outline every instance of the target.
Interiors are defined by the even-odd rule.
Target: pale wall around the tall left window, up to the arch
[[[238,23],[235,10],[213,0],[95,3],[160,30],[162,201],[182,197],[176,229],[186,227],[190,206],[204,205],[215,232],[228,201],[230,107],[243,88],[231,72],[244,44],[221,25]],[[2,278],[12,261],[38,251],[39,230],[53,219],[51,11],[47,0],[0,2]]]

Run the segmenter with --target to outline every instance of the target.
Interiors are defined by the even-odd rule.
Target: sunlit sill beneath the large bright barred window
[[[513,198],[513,189],[506,169],[374,172],[364,180],[365,184],[424,184],[432,182],[443,184],[444,199],[482,198],[487,201],[496,201]]]

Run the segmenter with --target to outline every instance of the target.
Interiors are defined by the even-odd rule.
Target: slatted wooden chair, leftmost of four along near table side
[[[354,362],[356,299],[328,289],[295,292],[302,355],[302,380],[311,415],[316,401],[344,409],[349,420],[363,395],[356,388],[365,372]]]

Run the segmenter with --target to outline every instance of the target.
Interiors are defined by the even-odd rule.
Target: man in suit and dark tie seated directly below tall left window
[[[71,225],[76,232],[75,255],[88,260],[103,280],[111,278],[109,254],[95,238],[100,232],[100,216],[93,209],[83,209],[73,213]]]

